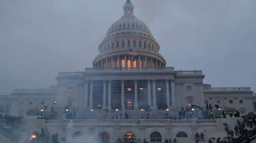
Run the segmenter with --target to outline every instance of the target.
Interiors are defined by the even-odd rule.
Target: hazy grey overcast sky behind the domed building
[[[167,66],[202,70],[213,87],[256,91],[255,0],[132,0]],[[92,67],[125,0],[0,0],[0,94],[49,88]]]

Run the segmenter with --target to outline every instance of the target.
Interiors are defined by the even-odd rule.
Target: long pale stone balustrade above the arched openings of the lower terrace
[[[46,120],[46,124],[49,126],[66,126],[70,120]],[[138,126],[138,125],[197,125],[197,124],[207,124],[215,125],[215,120],[201,119],[201,120],[170,120],[170,119],[136,119],[136,120],[72,120],[74,126],[103,126],[103,125],[120,125],[120,126]]]

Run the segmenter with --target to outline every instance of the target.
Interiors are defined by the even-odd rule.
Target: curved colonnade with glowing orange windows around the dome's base
[[[130,55],[130,59],[131,59]],[[94,68],[148,68],[148,67],[164,67],[164,62],[156,58],[147,56],[134,56],[135,61],[129,60],[129,55],[112,56],[98,61],[94,64]]]

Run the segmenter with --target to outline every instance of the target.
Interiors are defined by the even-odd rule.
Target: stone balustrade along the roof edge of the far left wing
[[[11,94],[55,94],[57,89],[13,89]]]

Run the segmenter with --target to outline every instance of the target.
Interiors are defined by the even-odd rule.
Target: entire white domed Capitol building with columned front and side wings
[[[170,114],[177,114],[182,105],[205,107],[208,103],[213,108],[217,104],[241,113],[255,111],[256,98],[250,87],[213,88],[210,84],[203,84],[205,75],[200,70],[182,71],[166,67],[166,60],[159,53],[159,43],[149,27],[135,17],[134,8],[127,0],[123,16],[110,26],[99,44],[99,55],[93,60],[93,68],[85,68],[83,72],[59,72],[55,77],[58,84],[50,89],[14,89],[10,95],[0,95],[0,112],[29,117],[29,111],[39,111],[44,106],[48,106],[48,110],[54,106],[59,112],[63,112],[66,105],[79,107],[81,113],[77,117],[83,120],[73,121],[77,122],[75,131],[81,126],[88,127],[95,134],[107,132],[114,141],[116,131],[121,138],[132,133],[135,137],[148,139],[151,133],[158,132],[160,138],[165,139],[193,137],[195,132],[215,127],[212,120],[203,125],[190,120],[183,121],[182,125],[166,121],[157,116],[166,108]],[[138,55],[129,56],[129,49],[137,51]],[[150,114],[148,120],[138,119],[141,109],[148,106],[155,115]],[[97,125],[90,120],[92,108],[96,112],[94,118],[99,119]],[[113,116],[115,118],[115,112],[113,115],[105,113],[106,108],[119,108],[122,112],[130,110],[135,115],[131,115],[129,121],[111,120]],[[146,118],[146,112],[144,114]],[[67,123],[67,120],[46,121],[46,126],[53,131],[54,128],[65,130]],[[60,136],[65,136],[65,131]]]

